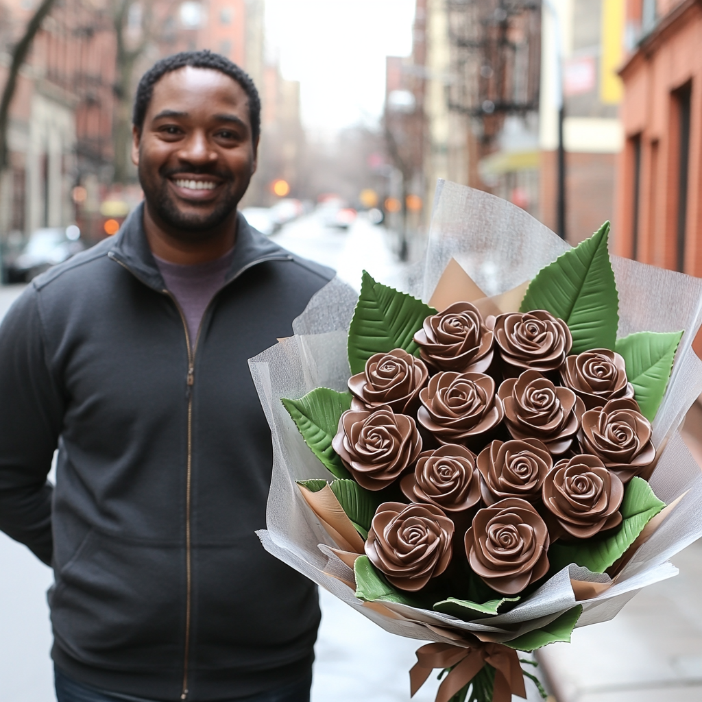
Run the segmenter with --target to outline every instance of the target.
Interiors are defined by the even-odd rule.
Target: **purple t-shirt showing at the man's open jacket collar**
[[[185,314],[190,346],[194,347],[207,305],[224,285],[227,272],[232,267],[234,249],[215,260],[191,265],[171,263],[155,253],[154,258],[164,277],[166,289],[178,300],[178,305]]]

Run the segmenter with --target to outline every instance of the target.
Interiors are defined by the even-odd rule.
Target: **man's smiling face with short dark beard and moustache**
[[[249,98],[229,76],[186,66],[156,85],[132,160],[152,216],[203,239],[231,215],[256,170]]]

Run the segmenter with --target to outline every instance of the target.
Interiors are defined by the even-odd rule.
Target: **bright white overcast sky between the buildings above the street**
[[[269,54],[300,81],[303,122],[324,132],[380,117],[385,56],[412,48],[415,0],[266,0]]]

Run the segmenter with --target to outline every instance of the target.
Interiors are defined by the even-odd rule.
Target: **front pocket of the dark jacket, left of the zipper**
[[[88,531],[55,573],[57,644],[100,668],[177,667],[183,656],[185,555]]]

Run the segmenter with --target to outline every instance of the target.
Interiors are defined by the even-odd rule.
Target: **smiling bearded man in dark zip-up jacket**
[[[59,702],[306,701],[317,593],[254,534],[272,448],[247,359],[331,272],[237,213],[260,125],[241,69],[162,60],[133,123],[144,203],[0,327],[0,528],[54,569]]]

